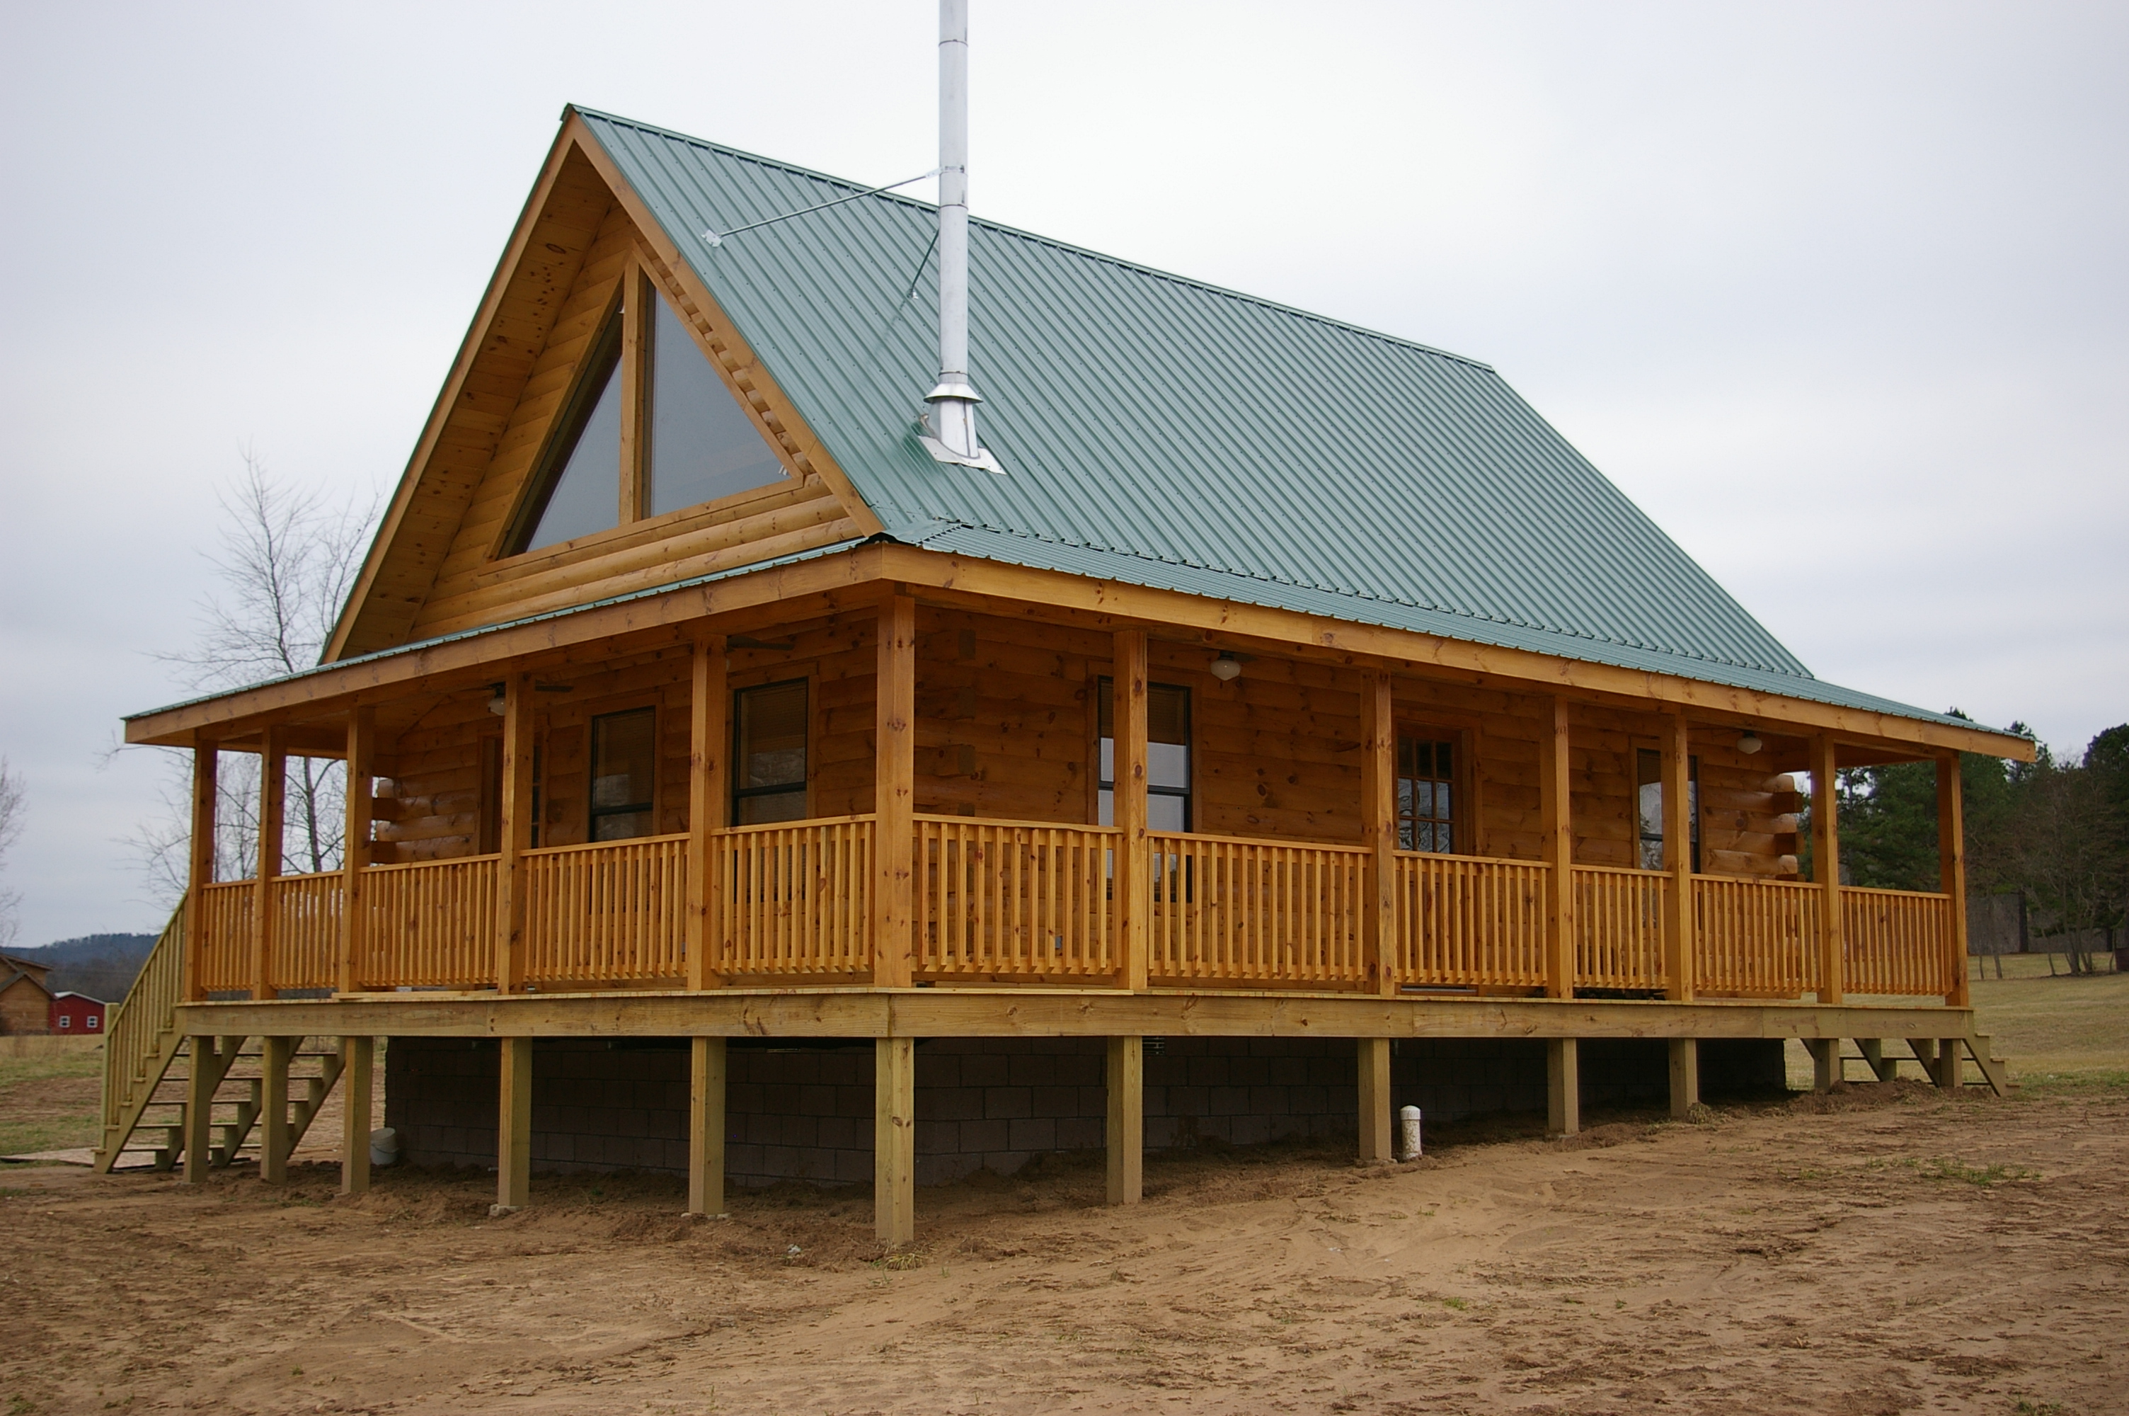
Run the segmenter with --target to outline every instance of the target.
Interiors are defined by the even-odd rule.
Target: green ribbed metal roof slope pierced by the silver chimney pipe
[[[1944,720],[1814,679],[1486,364],[992,221],[971,377],[1007,475],[943,466],[928,202],[713,247],[862,185],[577,113],[896,541]]]

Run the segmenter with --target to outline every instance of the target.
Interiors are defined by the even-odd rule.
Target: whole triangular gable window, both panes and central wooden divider
[[[541,460],[511,556],[788,477],[664,296],[649,279],[637,281],[637,290],[641,298],[613,311],[585,360],[577,394]],[[649,328],[641,328],[643,313],[649,313]],[[643,422],[634,439],[643,481],[641,494],[628,488],[624,496],[628,377],[622,358],[628,347],[643,351]]]

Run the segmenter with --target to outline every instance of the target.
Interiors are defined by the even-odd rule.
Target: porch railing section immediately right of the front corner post
[[[1113,975],[1120,839],[1111,826],[915,818],[915,973]]]

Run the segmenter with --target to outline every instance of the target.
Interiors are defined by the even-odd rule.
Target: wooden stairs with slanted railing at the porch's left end
[[[264,1131],[260,1120],[273,1043],[219,1037],[204,1056],[194,1056],[177,1031],[183,960],[185,909],[179,905],[104,1033],[104,1118],[96,1146],[100,1175],[130,1158],[147,1158],[162,1171],[179,1163],[185,1154],[185,1097],[194,1067],[213,1073],[209,1165],[260,1158],[262,1137],[253,1133]],[[302,1141],[347,1065],[336,1039],[330,1048],[313,1041],[324,1039],[294,1039],[287,1052],[287,1141],[281,1160]]]

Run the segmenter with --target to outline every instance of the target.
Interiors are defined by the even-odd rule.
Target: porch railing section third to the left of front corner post
[[[373,865],[356,988],[492,988],[498,856]]]

